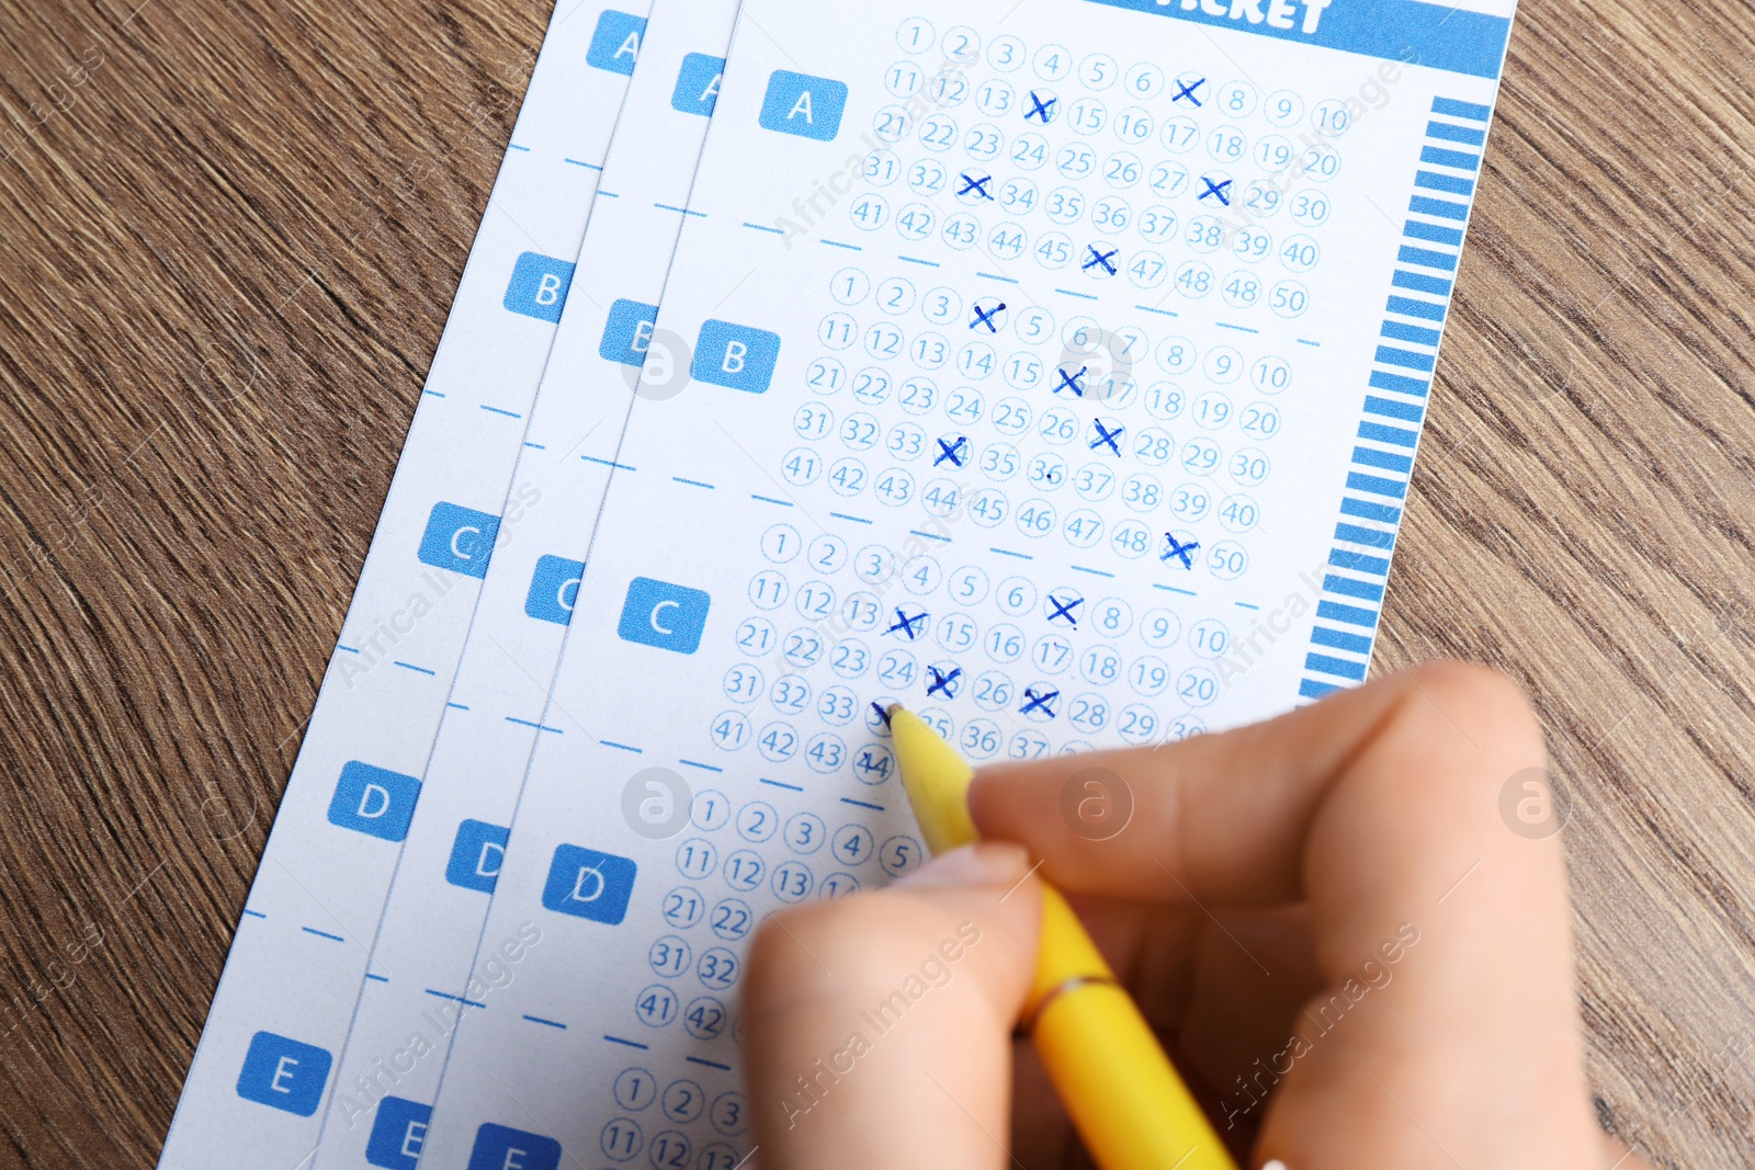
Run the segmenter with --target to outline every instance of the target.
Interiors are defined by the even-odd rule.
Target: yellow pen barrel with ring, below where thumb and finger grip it
[[[1102,1170],[1237,1170],[1146,1017],[1114,982],[1065,898],[1048,886],[1025,1019]]]

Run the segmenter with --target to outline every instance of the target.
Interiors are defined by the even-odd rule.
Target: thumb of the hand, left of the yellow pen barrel
[[[1039,921],[1028,856],[1009,844],[770,917],[744,984],[763,1170],[1004,1166]]]

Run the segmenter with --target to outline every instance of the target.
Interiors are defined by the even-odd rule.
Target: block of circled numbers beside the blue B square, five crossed
[[[1274,398],[1292,384],[1283,358],[1104,332],[1092,317],[1060,325],[1042,307],[921,293],[900,275],[874,284],[853,267],[830,293],[881,316],[820,323],[832,353],[806,368],[816,398],[792,416],[804,442],[781,454],[788,484],[914,507],[946,530],[969,521],[1032,540],[1058,531],[1123,560],[1157,553],[1221,581],[1248,568],[1234,539],[1260,523],[1255,493],[1283,417]],[[1048,360],[1035,349],[1055,354],[1055,342]],[[1202,524],[1221,531],[1207,539]]]

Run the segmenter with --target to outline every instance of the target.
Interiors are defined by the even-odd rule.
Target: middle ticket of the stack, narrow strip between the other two
[[[591,523],[684,219],[718,95],[734,0],[656,0],[616,123],[579,274],[512,475],[495,551],[342,1049],[316,1158],[414,1165],[458,1016],[486,1010],[542,931],[483,940],[493,874],[546,719]],[[648,391],[655,393],[655,391]],[[546,730],[539,731],[539,724]],[[477,944],[488,954],[472,970]]]

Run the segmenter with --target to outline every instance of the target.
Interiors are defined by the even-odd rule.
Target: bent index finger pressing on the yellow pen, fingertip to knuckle
[[[1497,812],[1506,779],[1543,763],[1511,682],[1436,663],[1236,731],[983,768],[969,809],[986,837],[1028,845],[1074,891],[1376,903],[1385,879],[1436,896],[1488,854],[1551,870],[1551,842],[1513,849],[1532,842]],[[1125,826],[1085,823],[1086,798],[1111,802]]]

